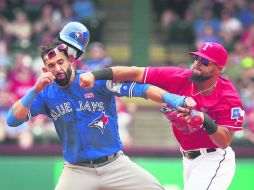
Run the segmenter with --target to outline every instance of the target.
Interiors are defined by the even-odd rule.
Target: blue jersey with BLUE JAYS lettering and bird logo
[[[100,80],[92,89],[84,90],[79,85],[79,75],[86,71],[75,72],[75,79],[68,88],[53,83],[41,91],[29,113],[52,118],[63,146],[64,159],[70,163],[110,155],[122,148],[115,95],[130,92],[131,96],[135,85]]]

